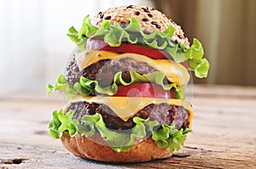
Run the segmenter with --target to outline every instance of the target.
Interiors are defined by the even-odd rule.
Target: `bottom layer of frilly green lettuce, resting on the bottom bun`
[[[82,122],[86,125],[82,125],[73,119],[73,111],[64,115],[62,110],[55,110],[52,121],[49,123],[49,135],[52,138],[61,138],[61,134],[68,131],[71,137],[80,134],[90,138],[99,133],[102,139],[118,152],[131,149],[131,146],[136,144],[137,138],[151,137],[160,148],[169,147],[171,151],[174,151],[183,147],[185,134],[191,131],[189,128],[177,130],[174,122],[172,122],[172,126],[166,124],[160,126],[158,121],[144,120],[140,117],[134,117],[133,121],[136,124],[134,127],[119,132],[108,129],[100,114],[84,115]],[[155,130],[156,127],[159,128]]]

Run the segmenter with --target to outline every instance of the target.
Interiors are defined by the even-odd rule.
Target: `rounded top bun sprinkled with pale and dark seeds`
[[[98,13],[95,18],[91,19],[91,23],[99,27],[104,20],[109,20],[110,25],[119,24],[125,27],[129,24],[131,17],[136,18],[141,23],[145,33],[152,33],[155,30],[165,31],[168,25],[172,25],[175,30],[172,41],[181,42],[186,48],[189,48],[189,40],[184,36],[181,26],[154,8],[138,7],[136,5],[108,8],[108,10]]]

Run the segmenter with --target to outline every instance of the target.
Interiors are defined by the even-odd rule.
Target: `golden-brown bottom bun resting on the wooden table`
[[[73,155],[95,161],[143,162],[163,159],[172,155],[169,148],[161,149],[154,143],[152,138],[147,138],[133,145],[131,149],[126,152],[117,152],[108,147],[108,145],[104,145],[105,142],[100,135],[94,136],[94,139],[97,139],[97,143],[102,144],[96,144],[90,139],[80,135],[76,135],[72,138],[68,132],[63,132],[61,137],[62,144],[68,151],[73,153]]]

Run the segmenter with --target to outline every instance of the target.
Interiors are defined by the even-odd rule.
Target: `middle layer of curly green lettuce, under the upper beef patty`
[[[131,85],[132,83],[155,83],[163,87],[165,90],[171,90],[172,87],[175,88],[175,94],[177,99],[184,99],[184,90],[185,85],[177,87],[175,83],[166,84],[165,83],[165,74],[161,71],[154,71],[150,74],[140,75],[136,71],[130,71],[131,82],[125,82],[122,78],[122,72],[119,71],[113,77],[113,83],[109,87],[102,87],[97,81],[92,81],[84,76],[80,77],[80,82],[76,82],[74,85],[71,85],[65,79],[65,76],[61,75],[58,77],[55,85],[48,84],[47,91],[53,93],[57,90],[62,90],[66,99],[71,99],[76,94],[82,94],[85,96],[95,95],[95,93],[105,93],[108,95],[113,95],[118,91],[118,85]]]

